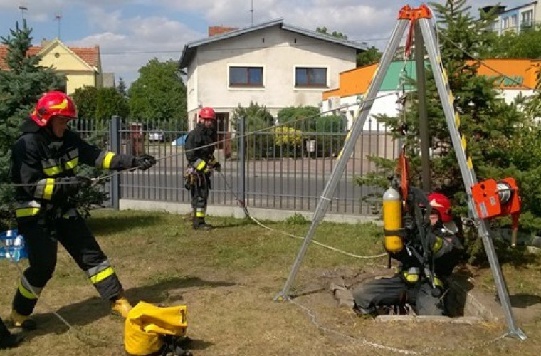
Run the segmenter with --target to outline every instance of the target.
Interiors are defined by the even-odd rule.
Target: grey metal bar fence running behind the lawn
[[[355,177],[377,168],[367,156],[394,159],[398,151],[389,132],[378,130],[373,120],[369,119],[365,126],[368,130],[357,137],[330,213],[373,214],[372,206],[363,197],[377,192],[377,187],[359,186]],[[234,206],[236,197],[240,197],[249,207],[315,209],[346,140],[347,122],[338,117],[311,117],[285,124],[253,118],[227,121],[219,122],[222,130],[218,132],[215,152],[224,174],[214,172],[209,204]],[[158,160],[145,172],[120,174],[120,199],[189,203],[190,194],[183,180],[187,167],[185,124],[114,118],[108,125],[82,120],[77,125],[80,135],[98,145],[131,155],[147,153]],[[115,201],[111,204],[114,206]]]

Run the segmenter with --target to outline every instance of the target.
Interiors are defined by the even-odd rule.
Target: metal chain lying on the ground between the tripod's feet
[[[325,332],[325,333],[337,335],[339,337],[345,338],[345,339],[350,340],[352,342],[358,342],[358,343],[360,343],[362,345],[367,345],[369,347],[374,347],[374,348],[379,349],[379,350],[387,350],[387,351],[391,351],[391,352],[396,352],[396,353],[399,353],[399,354],[402,354],[402,355],[433,355],[434,351],[440,351],[440,352],[451,352],[451,351],[456,351],[456,350],[473,351],[473,350],[479,349],[480,347],[487,347],[489,345],[492,345],[495,342],[503,340],[505,337],[507,337],[509,335],[509,333],[503,333],[502,335],[494,337],[493,339],[478,342],[478,343],[475,343],[473,345],[468,345],[468,346],[463,346],[463,345],[459,345],[459,346],[456,346],[456,347],[430,346],[430,347],[426,347],[424,350],[420,350],[420,351],[405,350],[405,349],[400,349],[400,348],[397,348],[397,347],[391,347],[391,346],[387,346],[387,345],[382,345],[382,344],[379,344],[377,342],[369,341],[369,340],[366,340],[366,339],[363,339],[363,338],[360,338],[360,337],[354,337],[352,335],[347,335],[346,333],[342,333],[342,332],[340,332],[338,330],[328,328],[328,327],[326,327],[324,325],[321,325],[321,323],[319,323],[317,321],[317,317],[316,317],[315,313],[312,312],[312,310],[310,310],[307,306],[299,303],[298,301],[295,301],[293,298],[288,298],[288,300],[290,301],[290,303],[293,303],[294,305],[297,305],[298,308],[302,309],[306,314],[308,314],[308,316],[310,317],[310,321],[312,322],[313,325],[315,325],[317,330],[320,330],[320,331]]]

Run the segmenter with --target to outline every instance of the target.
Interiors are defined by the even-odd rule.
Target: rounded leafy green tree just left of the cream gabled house
[[[128,90],[130,116],[154,122],[177,122],[187,127],[186,86],[176,61],[151,59]]]

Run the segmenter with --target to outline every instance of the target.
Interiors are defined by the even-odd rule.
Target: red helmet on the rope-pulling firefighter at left
[[[45,93],[36,103],[30,117],[40,126],[45,126],[52,117],[62,115],[65,117],[77,118],[77,108],[73,100],[60,91]]]

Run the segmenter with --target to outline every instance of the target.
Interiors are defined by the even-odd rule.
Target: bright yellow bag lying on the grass
[[[139,302],[124,323],[124,348],[129,355],[152,355],[164,345],[164,336],[186,335],[186,305],[160,308]]]

